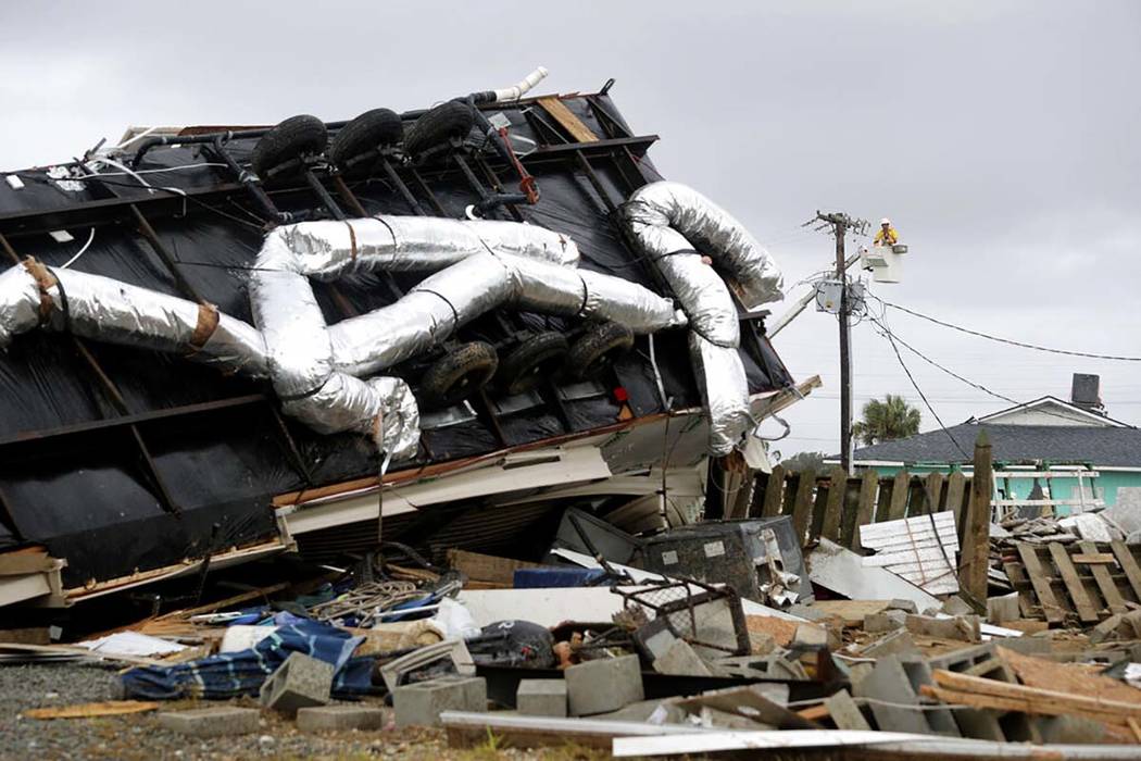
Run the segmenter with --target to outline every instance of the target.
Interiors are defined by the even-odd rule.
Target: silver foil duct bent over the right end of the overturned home
[[[748,309],[782,298],[780,273],[741,222],[685,185],[652,183],[634,191],[622,217],[689,318],[690,359],[710,418],[709,450],[728,454],[751,424],[748,386],[737,354],[737,308],[725,281],[702,256],[729,273]]]

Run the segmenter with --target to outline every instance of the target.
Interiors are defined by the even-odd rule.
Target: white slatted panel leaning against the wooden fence
[[[860,545],[874,550],[865,567],[885,568],[931,594],[958,591],[958,535],[949,510],[859,527]]]

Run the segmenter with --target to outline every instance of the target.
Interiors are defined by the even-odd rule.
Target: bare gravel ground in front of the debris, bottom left
[[[544,751],[478,747],[448,748],[442,730],[393,728],[306,735],[292,722],[265,712],[257,734],[195,739],[159,727],[157,712],[96,719],[50,721],[21,715],[27,709],[110,701],[115,697],[116,670],[99,665],[57,663],[0,665],[0,759],[413,759],[445,761],[494,758],[593,760],[604,754],[573,746]],[[257,707],[250,698],[233,702]],[[186,710],[196,704],[173,702],[160,710]]]

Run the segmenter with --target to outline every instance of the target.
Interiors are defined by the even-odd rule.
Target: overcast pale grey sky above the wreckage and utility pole
[[[1141,2],[7,2],[0,165],[66,160],[128,124],[347,119],[503,87],[616,103],[670,179],[728,208],[798,283],[832,258],[817,209],[890,216],[911,245],[884,299],[1023,341],[1141,356]],[[799,296],[804,285],[790,289]],[[775,305],[779,314],[784,305]],[[888,315],[998,394],[1100,373],[1141,424],[1141,363],[1038,354]],[[855,327],[856,395],[919,402]],[[836,323],[776,340],[825,387],[777,445],[837,451]],[[905,359],[949,426],[1006,403]],[[936,427],[923,411],[923,429]]]

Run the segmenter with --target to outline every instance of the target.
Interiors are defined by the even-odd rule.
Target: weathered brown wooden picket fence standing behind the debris
[[[812,469],[776,465],[771,473],[758,473],[748,517],[792,516],[802,545],[824,536],[858,551],[857,526],[950,510],[960,545],[965,545],[970,500],[971,478],[957,471],[913,476],[900,470],[880,476],[867,470],[848,476],[839,467],[817,475]]]

